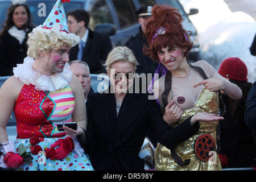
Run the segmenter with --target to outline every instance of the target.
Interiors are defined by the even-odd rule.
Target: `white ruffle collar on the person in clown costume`
[[[72,71],[69,64],[64,65],[63,72],[55,73],[54,75],[47,76],[42,75],[32,69],[34,59],[26,57],[23,64],[17,64],[17,67],[13,68],[14,76],[19,78],[26,85],[35,85],[36,90],[47,90],[49,92],[55,92],[56,90],[63,89],[68,86],[72,78]]]

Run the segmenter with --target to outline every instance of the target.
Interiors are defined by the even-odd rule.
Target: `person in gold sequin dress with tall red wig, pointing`
[[[167,69],[152,88],[158,93],[164,117],[168,111],[169,125],[177,127],[197,113],[218,114],[220,90],[233,100],[242,97],[241,89],[226,81],[206,61],[187,61],[193,43],[189,40],[191,32],[182,26],[179,10],[155,5],[145,26],[148,47],[144,47],[144,53]],[[221,170],[216,153],[218,121],[206,121],[207,118],[202,119],[199,131],[171,150],[159,143],[155,151],[156,170]]]

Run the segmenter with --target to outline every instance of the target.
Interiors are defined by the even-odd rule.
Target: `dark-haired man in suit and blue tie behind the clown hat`
[[[90,16],[85,10],[69,11],[67,16],[69,31],[80,37],[79,44],[71,48],[69,60],[86,62],[92,74],[106,73],[102,64],[112,49],[109,36],[88,28]]]

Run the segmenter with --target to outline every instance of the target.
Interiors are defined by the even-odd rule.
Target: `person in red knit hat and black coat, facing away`
[[[238,85],[243,93],[240,100],[233,100],[221,93],[226,106],[224,120],[220,121],[220,143],[218,155],[222,168],[251,167],[255,155],[252,130],[246,125],[245,103],[251,88],[247,82],[247,67],[238,57],[229,57],[222,61],[218,73],[233,84]]]

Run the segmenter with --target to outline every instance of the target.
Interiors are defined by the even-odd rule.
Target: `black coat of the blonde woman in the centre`
[[[163,120],[159,105],[146,93],[127,93],[116,117],[113,93],[95,93],[89,97],[87,139],[83,146],[95,170],[143,170],[139,158],[148,129],[168,148],[192,137],[199,123],[190,118],[172,128]]]

